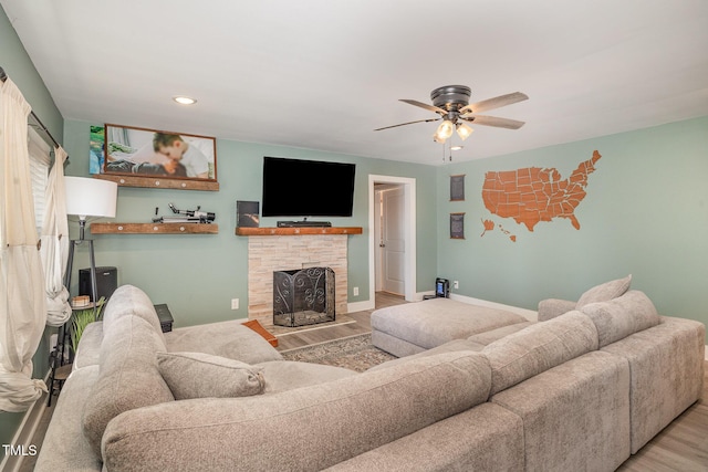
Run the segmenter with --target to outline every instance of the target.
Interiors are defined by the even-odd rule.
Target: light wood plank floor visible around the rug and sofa
[[[403,297],[386,293],[376,294],[376,310],[406,303]],[[356,323],[335,325],[312,331],[305,331],[279,337],[279,350],[292,349],[310,344],[324,343],[346,336],[371,332],[371,313],[364,311],[350,313],[348,317]],[[52,403],[53,405],[53,403]],[[32,443],[41,444],[51,418],[51,410],[35,432]],[[27,458],[21,472],[30,472],[34,465],[34,458]],[[675,419],[652,441],[623,463],[622,472],[707,472],[708,471],[708,361],[704,368],[704,391],[701,399],[690,406],[681,416]]]

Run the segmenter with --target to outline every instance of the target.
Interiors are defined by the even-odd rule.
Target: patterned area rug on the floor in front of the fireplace
[[[377,366],[393,356],[372,344],[371,333],[357,334],[341,339],[330,340],[305,347],[283,350],[285,360],[324,364],[327,366],[345,367],[363,373],[369,367]]]

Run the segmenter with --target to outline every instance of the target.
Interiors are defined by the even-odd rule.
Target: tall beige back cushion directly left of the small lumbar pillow
[[[157,370],[156,354],[164,349],[158,333],[137,316],[122,316],[104,334],[98,379],[83,411],[84,436],[96,455],[101,455],[101,438],[113,418],[135,408],[174,401]]]

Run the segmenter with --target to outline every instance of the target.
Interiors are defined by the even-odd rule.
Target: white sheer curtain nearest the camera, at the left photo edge
[[[24,411],[42,391],[32,356],[46,323],[46,297],[28,156],[30,105],[0,84],[0,410]]]

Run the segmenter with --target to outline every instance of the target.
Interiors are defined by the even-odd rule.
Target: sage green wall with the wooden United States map
[[[553,167],[568,178],[593,150],[602,158],[570,220],[529,232],[483,206],[485,174]],[[708,323],[708,117],[438,168],[438,272],[461,295],[535,310],[546,297],[577,300],[603,281],[633,275],[660,314]],[[449,176],[465,175],[466,200],[449,201]],[[449,213],[465,212],[465,240]],[[491,219],[497,227],[483,232]]]

